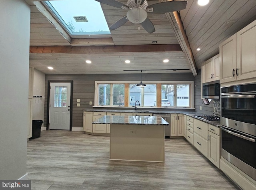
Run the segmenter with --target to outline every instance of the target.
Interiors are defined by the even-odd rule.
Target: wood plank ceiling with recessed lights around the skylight
[[[154,51],[145,49],[146,46],[144,45],[152,45],[152,41],[157,41],[156,49],[159,45],[172,46],[172,44],[178,43],[166,14],[148,15],[156,28],[152,34],[148,34],[140,25],[127,22],[122,27],[111,31],[110,38],[72,39],[40,2],[26,1],[31,5],[30,45],[47,46],[41,47],[40,51],[35,51],[37,48],[34,47],[33,52],[30,53],[30,65],[39,71],[54,74],[114,74],[124,73],[124,69],[190,69],[190,64],[181,50]],[[126,0],[120,1],[126,4]],[[158,2],[158,0],[148,0],[148,4]],[[126,15],[126,10],[104,4],[101,6],[109,26]],[[188,0],[186,9],[180,11],[180,18],[196,66],[200,69],[204,61],[218,54],[220,42],[256,19],[256,0],[210,0],[208,5],[202,7],[198,6],[197,0]],[[139,26],[140,30],[138,30]],[[88,45],[103,45],[106,48],[112,45],[134,45],[143,51],[107,53],[103,51],[66,53],[63,51],[54,53],[52,50],[52,52],[46,53],[42,50],[54,49],[51,46],[84,47]],[[201,51],[196,51],[197,48],[200,48]],[[86,59],[90,59],[92,63],[86,64]],[[129,59],[131,63],[125,64],[126,59]],[[163,63],[163,59],[170,61]],[[54,70],[48,70],[48,66],[54,67]],[[191,72],[191,70],[158,72]],[[138,71],[131,73],[138,73]]]

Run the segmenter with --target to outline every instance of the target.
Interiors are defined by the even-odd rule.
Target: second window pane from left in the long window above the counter
[[[124,84],[113,84],[113,106],[124,106]]]

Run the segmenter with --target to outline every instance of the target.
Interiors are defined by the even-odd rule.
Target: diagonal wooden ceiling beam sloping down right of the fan
[[[159,0],[159,1],[166,2],[168,0]],[[186,58],[188,59],[188,63],[190,65],[190,69],[191,69],[193,75],[197,76],[196,62],[195,62],[192,50],[190,48],[190,44],[188,42],[188,37],[186,35],[186,31],[182,24],[180,14],[177,11],[175,11],[175,12],[166,13],[166,16],[167,16],[170,24],[172,25],[172,28],[174,29],[174,33],[178,39],[180,47],[182,48],[183,52],[186,55]]]

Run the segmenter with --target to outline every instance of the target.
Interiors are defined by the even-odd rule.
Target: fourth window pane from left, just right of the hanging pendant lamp
[[[156,84],[146,84],[144,88],[144,106],[156,106]]]

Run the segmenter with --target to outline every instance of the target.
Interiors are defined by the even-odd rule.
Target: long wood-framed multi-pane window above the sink
[[[136,83],[137,84],[137,83]],[[191,94],[193,81],[186,82],[147,82],[145,87],[136,86],[134,82],[124,81],[95,81],[94,106],[128,106],[134,107],[139,101],[141,107],[193,108],[194,101]],[[157,87],[161,86],[161,89]],[[159,86],[159,87],[160,87]],[[161,97],[157,100],[157,97]],[[138,103],[136,106],[139,106]]]

